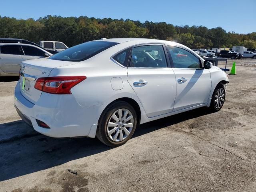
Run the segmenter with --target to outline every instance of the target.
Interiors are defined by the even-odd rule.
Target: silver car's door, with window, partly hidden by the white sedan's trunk
[[[45,52],[40,50],[37,47],[29,46],[29,45],[22,45],[22,49],[24,51],[23,60],[30,60],[30,59],[38,59],[46,57]]]

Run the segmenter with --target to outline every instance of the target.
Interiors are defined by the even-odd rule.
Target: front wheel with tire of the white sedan
[[[219,111],[224,105],[226,97],[226,91],[223,84],[218,84],[212,94],[212,100],[210,104],[210,110],[212,112]]]

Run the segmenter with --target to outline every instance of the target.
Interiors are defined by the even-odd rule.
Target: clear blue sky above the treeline
[[[0,15],[17,19],[47,15],[146,20],[174,25],[222,27],[227,32],[256,32],[256,0],[6,0]]]

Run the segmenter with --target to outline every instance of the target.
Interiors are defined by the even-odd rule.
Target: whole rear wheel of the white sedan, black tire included
[[[132,137],[136,126],[137,114],[134,108],[127,102],[117,101],[102,112],[96,137],[107,146],[117,147]]]

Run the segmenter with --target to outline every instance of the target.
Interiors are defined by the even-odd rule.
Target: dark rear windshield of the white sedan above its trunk
[[[68,48],[62,52],[59,52],[49,59],[60,61],[83,61],[92,56],[116,45],[115,42],[107,41],[89,41],[74,47]]]

